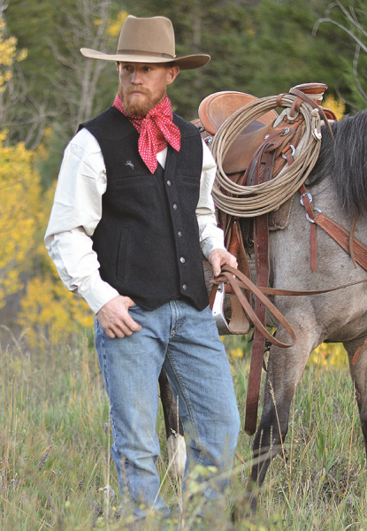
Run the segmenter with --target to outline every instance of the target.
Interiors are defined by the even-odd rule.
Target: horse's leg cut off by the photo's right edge
[[[355,384],[356,401],[367,455],[367,344],[364,340],[365,338],[343,342],[343,345],[348,352],[350,375]],[[353,365],[355,357],[355,364]]]

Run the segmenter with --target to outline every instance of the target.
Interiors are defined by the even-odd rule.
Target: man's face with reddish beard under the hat
[[[119,63],[119,96],[125,111],[146,116],[164,100],[168,85],[175,80],[178,66],[152,63]]]

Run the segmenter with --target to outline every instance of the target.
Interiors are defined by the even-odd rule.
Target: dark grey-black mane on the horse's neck
[[[330,176],[340,206],[354,217],[367,214],[367,110],[322,127],[321,150],[306,185]]]

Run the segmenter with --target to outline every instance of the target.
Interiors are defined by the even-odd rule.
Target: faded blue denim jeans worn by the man
[[[123,502],[127,494],[135,517],[144,516],[141,501],[168,517],[167,504],[157,495],[161,368],[190,438],[186,471],[200,464],[229,475],[240,430],[233,381],[209,307],[199,312],[178,299],[153,312],[135,304],[129,312],[141,331],[123,339],[111,339],[96,319],[96,350],[111,404],[111,453]]]

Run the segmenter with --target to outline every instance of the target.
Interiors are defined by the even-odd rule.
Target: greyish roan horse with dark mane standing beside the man
[[[334,122],[332,128],[334,141],[325,127],[322,129],[317,164],[305,184],[314,205],[348,232],[357,216],[356,238],[367,244],[367,111]],[[310,222],[299,197],[294,196],[287,227],[270,234],[271,287],[328,289],[366,280],[366,271],[355,267],[352,258],[319,227],[317,269],[310,270]],[[321,342],[342,342],[348,352],[367,450],[367,283],[320,295],[275,296],[272,300],[292,325],[297,341],[287,349],[271,346],[263,413],[253,444],[251,480],[257,486],[264,482],[271,458],[285,440],[295,386],[310,352]],[[283,327],[278,327],[276,337],[287,342]],[[168,434],[178,431],[175,408],[172,404]],[[251,506],[256,508],[255,496]]]

